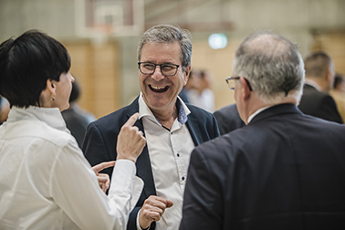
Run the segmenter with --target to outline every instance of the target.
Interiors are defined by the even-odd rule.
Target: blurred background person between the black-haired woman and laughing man
[[[78,105],[80,93],[81,89],[78,80],[75,78],[72,83],[72,92],[69,97],[69,107],[67,110],[61,112],[62,117],[66,121],[68,130],[72,136],[76,138],[79,147],[81,147],[84,140],[85,131],[89,123],[96,120],[96,117],[92,113],[80,108]]]

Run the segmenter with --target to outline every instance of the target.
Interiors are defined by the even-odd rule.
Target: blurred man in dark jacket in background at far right
[[[318,51],[306,57],[304,63],[306,84],[298,109],[305,114],[341,124],[337,105],[329,95],[335,76],[332,59],[325,52]]]

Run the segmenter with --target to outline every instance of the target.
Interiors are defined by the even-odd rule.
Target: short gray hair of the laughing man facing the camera
[[[183,71],[191,66],[192,42],[191,34],[186,29],[171,25],[158,25],[148,29],[141,37],[138,46],[138,61],[141,61],[141,50],[146,43],[174,43],[181,47],[181,63]]]

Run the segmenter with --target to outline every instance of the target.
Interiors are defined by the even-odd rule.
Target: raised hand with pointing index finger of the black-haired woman
[[[139,113],[131,115],[131,118],[121,127],[116,148],[117,160],[127,159],[136,162],[143,147],[145,147],[146,139],[143,137],[142,131],[133,126],[138,117]]]

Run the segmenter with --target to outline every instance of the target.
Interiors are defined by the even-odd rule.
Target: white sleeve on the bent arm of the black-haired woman
[[[57,153],[50,175],[50,193],[57,206],[81,229],[126,229],[131,212],[134,162],[119,160],[109,197],[74,142]]]

